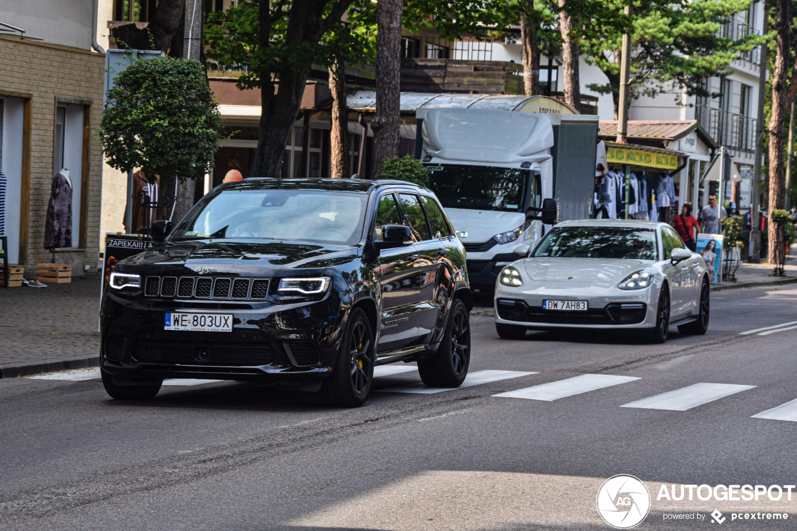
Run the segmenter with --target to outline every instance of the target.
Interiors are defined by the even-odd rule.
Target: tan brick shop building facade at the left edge
[[[102,146],[92,133],[103,108],[104,54],[92,49],[92,0],[27,0],[0,6],[0,167],[6,175],[10,264],[54,260],[73,275],[96,272]],[[45,248],[54,176],[69,170],[71,233]]]

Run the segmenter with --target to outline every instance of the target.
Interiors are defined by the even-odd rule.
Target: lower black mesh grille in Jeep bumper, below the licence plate
[[[135,359],[151,363],[190,365],[269,365],[274,361],[267,344],[194,343],[139,340]]]

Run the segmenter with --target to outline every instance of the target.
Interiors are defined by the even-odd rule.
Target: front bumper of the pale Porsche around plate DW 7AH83
[[[496,322],[528,328],[650,329],[656,325],[656,304],[650,287],[622,291],[616,287],[507,287],[497,283]],[[589,295],[584,295],[589,293]],[[587,310],[544,310],[543,300],[587,301]]]

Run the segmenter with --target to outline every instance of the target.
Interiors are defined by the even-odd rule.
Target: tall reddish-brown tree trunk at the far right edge
[[[776,0],[777,15],[775,17],[775,68],[772,71],[772,107],[769,119],[769,161],[767,165],[769,186],[769,213],[775,209],[783,209],[784,173],[783,173],[783,129],[789,105],[789,83],[787,70],[789,57],[789,29],[792,17],[791,0]],[[785,254],[783,248],[783,225],[769,221],[768,224],[768,256],[769,264],[775,275],[783,275]]]

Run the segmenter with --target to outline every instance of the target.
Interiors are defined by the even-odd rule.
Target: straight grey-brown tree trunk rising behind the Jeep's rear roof
[[[388,159],[398,157],[401,15],[402,0],[380,0],[376,4],[376,113],[371,119],[375,178],[379,178]]]

